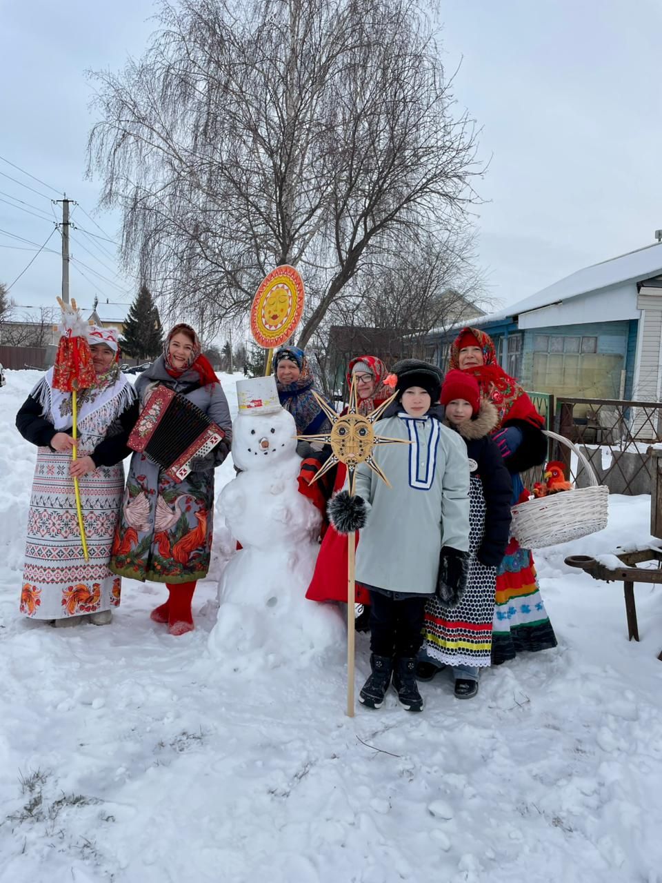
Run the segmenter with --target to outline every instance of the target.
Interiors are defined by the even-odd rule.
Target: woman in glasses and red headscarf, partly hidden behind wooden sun
[[[384,384],[387,376],[387,366],[376,356],[357,356],[352,358],[347,372],[347,383],[351,387],[352,379],[357,381],[357,411],[361,414],[370,414],[387,398],[393,395],[393,389]],[[345,408],[342,413],[346,413]],[[312,478],[314,470],[310,473]],[[345,483],[347,468],[339,463],[335,473],[333,491],[340,490]],[[303,472],[299,476],[299,486],[303,484]],[[312,487],[315,487],[315,482]],[[307,495],[307,494],[306,494]],[[331,494],[327,495],[328,497]],[[326,509],[325,499],[325,509]],[[358,533],[357,533],[358,542]],[[324,534],[320,555],[317,557],[317,565],[312,575],[311,585],[305,597],[313,601],[344,601],[347,602],[347,537],[336,532],[329,525]],[[370,595],[366,589],[357,586],[357,604],[364,606],[358,612],[357,629],[367,630]]]

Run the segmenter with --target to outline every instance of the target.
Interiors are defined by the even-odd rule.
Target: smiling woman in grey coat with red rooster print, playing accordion
[[[232,421],[212,366],[200,354],[195,331],[176,325],[163,355],[140,375],[135,389],[141,407],[154,389],[181,393],[218,424],[223,441],[207,457],[194,459],[180,482],[170,479],[144,454],[134,453],[124,491],[110,569],[118,576],[165,583],[168,600],[152,611],[172,635],[193,629],[191,601],[197,580],[207,576],[214,519],[214,469],[229,452]]]

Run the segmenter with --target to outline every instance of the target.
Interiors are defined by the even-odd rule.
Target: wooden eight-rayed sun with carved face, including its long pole
[[[357,465],[365,463],[376,475],[384,481],[387,487],[391,487],[386,475],[381,471],[379,464],[375,463],[374,448],[379,444],[411,444],[408,439],[392,439],[384,435],[378,435],[374,431],[373,424],[380,419],[397,393],[380,404],[379,408],[365,417],[357,409],[357,377],[351,379],[350,406],[346,414],[338,414],[324,401],[323,398],[312,392],[320,408],[331,421],[331,429],[326,434],[297,435],[297,439],[305,439],[306,442],[325,442],[331,446],[331,457],[316,472],[308,482],[319,479],[335,464],[344,463],[349,476],[350,495],[354,495],[355,472]],[[356,598],[356,534],[347,535],[347,715],[354,717],[354,637],[356,634],[354,623],[354,601]]]

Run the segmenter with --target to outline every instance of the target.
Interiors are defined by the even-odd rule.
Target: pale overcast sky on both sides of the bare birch
[[[84,179],[94,122],[85,72],[139,56],[153,13],[152,0],[0,0],[0,156],[79,201],[73,223],[87,234],[103,235],[83,210],[110,238],[118,218],[95,214],[98,183]],[[490,295],[513,303],[575,269],[650,244],[662,228],[662,3],[440,0],[440,18],[447,72],[461,62],[458,108],[482,126],[480,155],[489,160],[477,185],[485,204],[476,223]],[[0,281],[10,284],[34,251],[5,246],[41,245],[53,230],[52,208],[61,208],[51,208],[56,192],[3,160],[0,173],[0,200],[14,198],[11,206],[0,201]],[[132,283],[116,275],[114,246],[76,230],[72,236],[71,253],[82,263],[71,267],[71,295],[83,306],[94,293],[130,303]],[[11,290],[21,305],[55,303],[57,233],[48,247],[56,253],[42,252]]]

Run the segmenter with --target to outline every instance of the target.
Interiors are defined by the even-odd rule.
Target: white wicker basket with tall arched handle
[[[527,549],[578,540],[601,531],[607,523],[609,488],[598,484],[593,467],[576,445],[562,435],[547,430],[543,432],[574,451],[586,470],[591,486],[575,487],[513,506],[510,532],[520,546]]]

